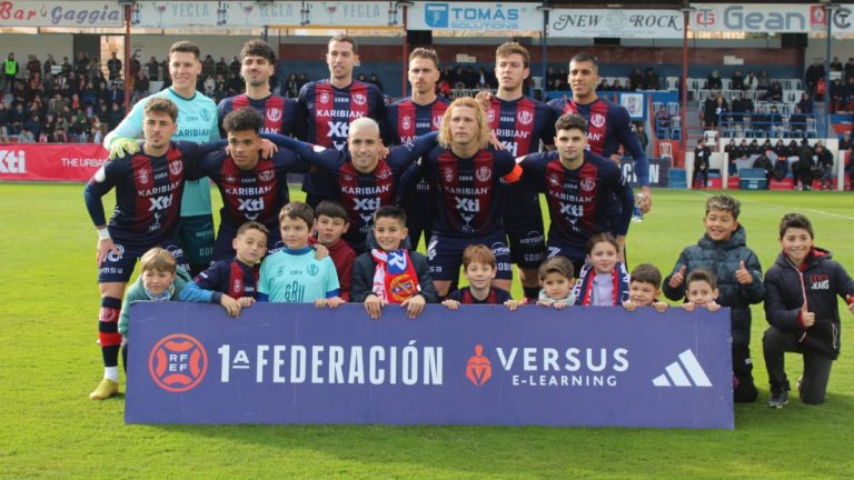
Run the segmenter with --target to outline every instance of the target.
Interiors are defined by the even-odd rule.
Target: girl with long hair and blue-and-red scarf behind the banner
[[[619,261],[619,243],[610,233],[587,241],[587,260],[575,286],[575,304],[614,307],[628,300],[629,277]]]

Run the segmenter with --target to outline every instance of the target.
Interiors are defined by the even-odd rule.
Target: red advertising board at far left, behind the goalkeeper
[[[0,143],[0,180],[87,181],[107,156],[95,143]]]

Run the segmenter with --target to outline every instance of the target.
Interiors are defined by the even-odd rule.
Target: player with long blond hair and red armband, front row
[[[421,158],[436,190],[436,220],[427,248],[430,276],[439,297],[459,278],[463,251],[481,243],[493,250],[498,272],[494,286],[510,289],[510,252],[499,214],[502,177],[518,178],[520,169],[506,151],[487,149],[489,123],[470,98],[455,100],[441,118],[439,147]]]

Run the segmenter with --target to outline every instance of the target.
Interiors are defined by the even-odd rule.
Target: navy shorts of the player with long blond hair
[[[459,268],[463,266],[463,250],[470,244],[485,244],[495,254],[496,267],[498,267],[498,273],[495,278],[497,280],[512,280],[510,249],[507,248],[505,241],[504,231],[477,238],[445,237],[434,233],[427,246],[430,277],[439,281],[457,280],[459,278]]]

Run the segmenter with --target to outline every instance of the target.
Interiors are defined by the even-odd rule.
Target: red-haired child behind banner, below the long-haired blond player
[[[510,298],[510,292],[491,286],[496,267],[495,253],[485,244],[470,244],[463,250],[463,272],[468,279],[468,287],[451,292],[441,302],[450,310],[461,304],[504,304],[510,311],[516,310],[519,301]]]

